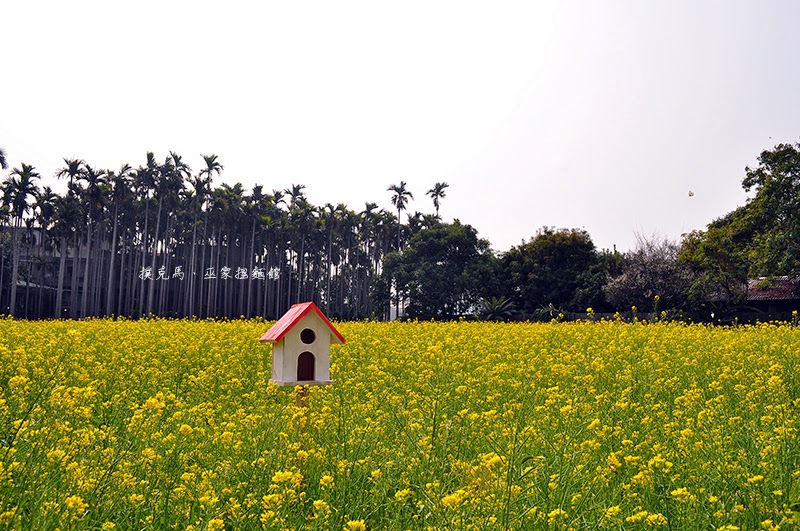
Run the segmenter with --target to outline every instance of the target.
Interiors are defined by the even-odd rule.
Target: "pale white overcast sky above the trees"
[[[445,181],[442,217],[497,251],[542,226],[626,250],[744,204],[745,166],[800,140],[798,21],[794,0],[9,0],[0,146],[57,190],[64,157],[170,150],[356,211],[404,180],[431,213]]]

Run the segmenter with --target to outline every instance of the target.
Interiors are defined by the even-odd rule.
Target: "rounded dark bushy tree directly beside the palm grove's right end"
[[[489,242],[456,220],[417,232],[402,252],[387,255],[384,275],[407,300],[405,317],[454,319],[476,313],[493,268]]]

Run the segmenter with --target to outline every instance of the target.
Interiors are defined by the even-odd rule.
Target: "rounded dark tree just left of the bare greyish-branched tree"
[[[584,311],[604,303],[604,262],[585,230],[541,229],[503,255],[499,278],[503,294],[529,314],[543,307]]]

